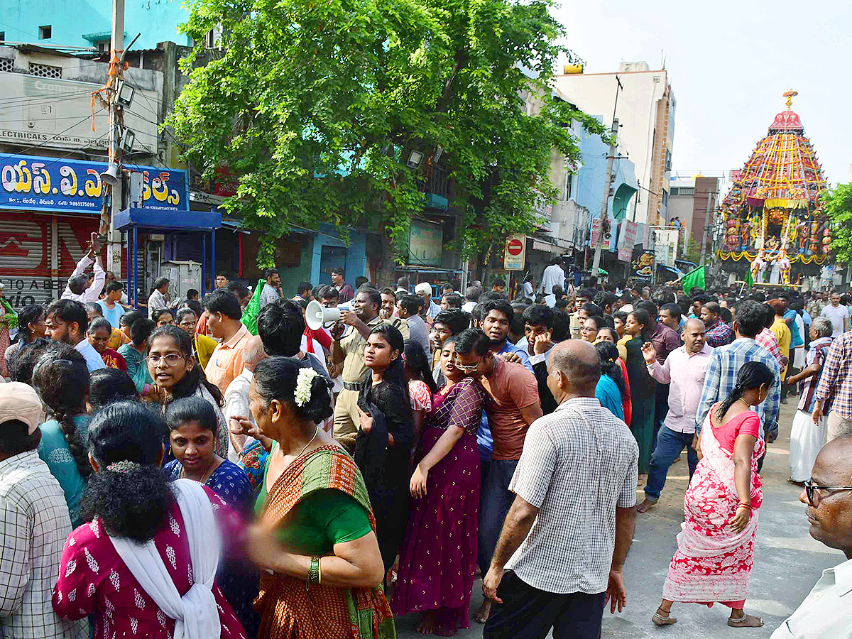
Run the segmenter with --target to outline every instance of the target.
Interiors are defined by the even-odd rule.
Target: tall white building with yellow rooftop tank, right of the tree
[[[675,96],[668,72],[652,71],[646,62],[622,62],[618,73],[584,73],[576,66],[568,69],[575,72],[557,76],[556,89],[582,111],[602,116],[607,128],[613,124],[618,76],[623,87],[615,113],[619,147],[636,165],[640,186],[628,219],[665,224],[675,129]]]

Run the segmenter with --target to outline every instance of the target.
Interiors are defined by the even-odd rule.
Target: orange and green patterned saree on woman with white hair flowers
[[[296,504],[314,491],[334,488],[376,519],[354,460],[337,446],[322,446],[294,460],[270,489],[262,521],[279,527]],[[285,574],[261,573],[255,609],[266,639],[394,639],[394,618],[381,588],[335,588]]]

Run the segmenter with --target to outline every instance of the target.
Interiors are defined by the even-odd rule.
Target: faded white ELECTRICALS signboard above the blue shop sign
[[[24,73],[0,72],[0,142],[69,150],[100,149],[107,153],[108,112],[92,93],[101,84]],[[13,99],[14,98],[14,99]],[[124,109],[124,126],[135,134],[135,152],[157,153],[159,99],[155,92],[135,89]]]

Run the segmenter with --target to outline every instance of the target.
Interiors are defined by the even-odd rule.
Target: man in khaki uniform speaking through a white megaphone
[[[334,365],[343,363],[343,390],[337,395],[334,407],[334,436],[340,439],[343,435],[358,432],[360,416],[358,414],[358,391],[364,381],[367,367],[364,363],[364,348],[370,331],[377,325],[385,323],[379,317],[382,308],[382,296],[376,289],[361,289],[352,300],[352,310],[340,310],[340,320],[331,328],[331,360]],[[331,310],[331,309],[325,309]],[[408,338],[400,326],[402,337]]]

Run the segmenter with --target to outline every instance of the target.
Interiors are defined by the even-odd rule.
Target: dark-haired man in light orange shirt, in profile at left
[[[204,375],[223,395],[227,385],[243,371],[243,350],[251,333],[239,321],[242,316],[239,298],[233,292],[216,289],[204,297],[204,317],[210,335],[220,340],[210,355]]]

